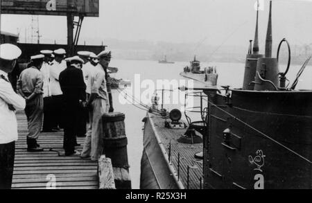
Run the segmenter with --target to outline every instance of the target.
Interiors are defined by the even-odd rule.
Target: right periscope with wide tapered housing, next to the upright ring
[[[279,87],[279,68],[277,58],[272,58],[272,1],[266,34],[266,56],[259,58],[257,62],[256,80],[254,90],[276,91]]]

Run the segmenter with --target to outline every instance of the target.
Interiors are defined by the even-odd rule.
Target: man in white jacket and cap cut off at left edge
[[[15,110],[25,108],[25,100],[17,95],[8,80],[21,50],[13,44],[0,45],[0,189],[10,189],[17,141]]]

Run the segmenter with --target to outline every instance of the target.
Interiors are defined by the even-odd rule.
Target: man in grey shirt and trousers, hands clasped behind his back
[[[33,55],[29,68],[21,72],[17,81],[17,91],[26,100],[25,114],[28,121],[27,150],[42,152],[37,143],[43,122],[43,82],[44,76],[40,69],[44,55]]]

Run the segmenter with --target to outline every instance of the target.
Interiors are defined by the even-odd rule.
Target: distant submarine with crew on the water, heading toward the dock
[[[184,71],[180,73],[180,76],[195,80],[203,85],[216,86],[218,80],[216,67],[205,68],[203,71],[200,70],[200,62],[196,59],[196,56],[194,56],[194,60],[190,64],[190,67],[184,67]]]

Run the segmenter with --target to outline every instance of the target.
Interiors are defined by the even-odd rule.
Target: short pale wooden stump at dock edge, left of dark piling
[[[105,156],[98,159],[98,184],[99,189],[116,189],[112,161]]]

